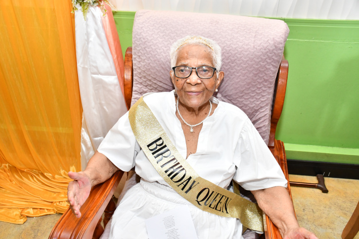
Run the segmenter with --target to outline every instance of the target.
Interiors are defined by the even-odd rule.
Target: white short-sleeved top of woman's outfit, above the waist
[[[144,101],[178,152],[186,158],[186,140],[175,115],[173,91],[145,94]],[[281,168],[247,115],[214,97],[211,102],[218,106],[203,122],[197,152],[187,159],[193,169],[202,178],[223,188],[227,188],[232,179],[247,190],[287,186]],[[98,151],[123,171],[135,167],[136,173],[146,181],[169,186],[136,141],[128,112],[108,132]]]

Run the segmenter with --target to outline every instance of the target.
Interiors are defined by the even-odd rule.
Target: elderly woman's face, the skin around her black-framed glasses
[[[212,50],[205,45],[187,44],[178,51],[176,66],[214,67],[211,56]],[[173,71],[170,72],[170,75],[179,101],[187,107],[198,109],[208,103],[223,79],[224,73],[220,71],[217,78],[217,74],[214,72],[209,79],[199,78],[195,69],[192,69],[188,78],[178,78]]]

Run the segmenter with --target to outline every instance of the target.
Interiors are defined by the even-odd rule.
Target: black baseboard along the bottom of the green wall
[[[287,159],[289,174],[324,177],[347,178],[359,180],[358,164],[342,164]]]

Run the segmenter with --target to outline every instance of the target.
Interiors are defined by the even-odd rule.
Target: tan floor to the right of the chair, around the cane
[[[317,177],[289,175],[290,181],[317,183]],[[300,226],[319,238],[339,239],[359,201],[359,180],[325,178],[329,190],[291,187],[294,209]],[[359,239],[359,233],[354,239]]]

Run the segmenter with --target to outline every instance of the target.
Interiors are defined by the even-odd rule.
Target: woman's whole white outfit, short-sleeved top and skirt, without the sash
[[[187,148],[181,122],[175,115],[173,91],[144,95],[157,120],[178,152],[186,158]],[[232,179],[246,190],[287,186],[287,180],[261,136],[238,107],[219,102],[204,120],[197,152],[187,161],[204,179],[227,188]],[[110,238],[147,239],[145,220],[179,205],[188,205],[199,239],[242,238],[236,218],[203,212],[179,196],[157,173],[134,137],[128,112],[102,141],[98,151],[123,171],[135,167],[141,182],[128,190],[111,222]]]

